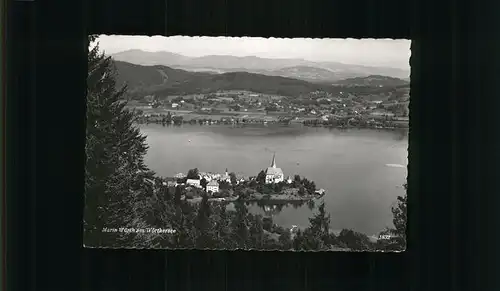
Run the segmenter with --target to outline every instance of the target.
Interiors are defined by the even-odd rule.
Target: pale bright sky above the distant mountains
[[[190,57],[257,56],[410,69],[411,41],[404,39],[101,35],[98,41],[107,54],[140,49],[150,52],[168,51]]]

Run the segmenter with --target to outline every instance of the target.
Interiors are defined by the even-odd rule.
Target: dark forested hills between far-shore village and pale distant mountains
[[[147,94],[158,96],[210,93],[220,90],[247,90],[264,94],[298,96],[321,90],[330,93],[378,93],[409,83],[391,77],[368,76],[345,79],[342,84],[326,84],[282,76],[269,76],[249,72],[192,72],[163,65],[143,66],[115,60],[117,86],[126,84],[130,97]],[[370,82],[365,82],[369,78]],[[385,82],[385,85],[375,82]],[[367,85],[368,84],[368,85]]]

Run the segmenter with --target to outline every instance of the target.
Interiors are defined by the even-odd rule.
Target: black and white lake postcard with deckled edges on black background
[[[404,251],[410,44],[89,36],[84,247]]]

